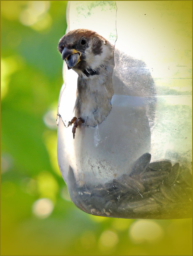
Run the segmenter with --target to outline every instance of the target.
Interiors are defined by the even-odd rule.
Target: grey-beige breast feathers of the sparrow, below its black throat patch
[[[86,125],[101,123],[110,113],[112,95],[112,72],[110,77],[99,74],[87,79],[78,78],[75,115],[82,117]]]

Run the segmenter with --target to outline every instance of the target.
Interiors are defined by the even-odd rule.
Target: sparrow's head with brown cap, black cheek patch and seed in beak
[[[97,70],[114,56],[111,43],[88,29],[69,31],[60,39],[58,50],[68,69],[87,77],[97,74]]]

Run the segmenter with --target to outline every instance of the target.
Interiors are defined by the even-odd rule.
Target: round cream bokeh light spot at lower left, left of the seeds
[[[47,218],[53,211],[53,202],[48,198],[41,198],[34,202],[32,212],[39,218]]]

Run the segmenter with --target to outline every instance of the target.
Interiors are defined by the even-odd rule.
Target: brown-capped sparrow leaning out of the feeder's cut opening
[[[68,69],[78,74],[75,117],[72,132],[81,123],[96,126],[111,111],[114,46],[104,37],[88,29],[75,29],[59,41],[58,50]]]

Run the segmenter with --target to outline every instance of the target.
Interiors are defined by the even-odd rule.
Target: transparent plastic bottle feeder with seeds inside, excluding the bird
[[[191,57],[185,55],[191,43],[175,44],[171,34],[176,54],[168,39],[160,42],[162,21],[154,14],[163,10],[158,1],[148,3],[151,8],[141,1],[68,5],[68,30],[91,29],[115,44],[112,109],[95,127],[80,124],[75,139],[68,122],[74,117],[77,74],[65,63],[63,69],[58,163],[72,201],[89,214],[191,216]],[[157,35],[154,43],[150,35]]]

